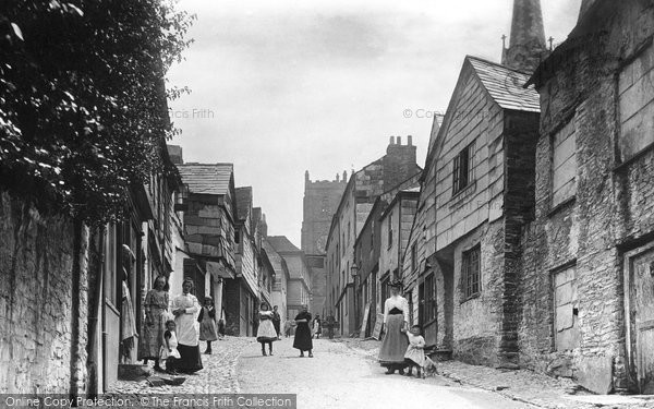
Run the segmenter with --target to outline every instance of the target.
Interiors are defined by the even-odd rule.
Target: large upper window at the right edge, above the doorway
[[[654,144],[654,47],[650,46],[622,69],[618,80],[620,106],[620,161],[625,163]]]

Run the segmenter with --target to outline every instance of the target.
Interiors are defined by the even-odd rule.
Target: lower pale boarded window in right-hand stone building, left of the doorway
[[[577,268],[574,266],[554,274],[554,338],[557,351],[579,347],[579,302],[577,297]]]

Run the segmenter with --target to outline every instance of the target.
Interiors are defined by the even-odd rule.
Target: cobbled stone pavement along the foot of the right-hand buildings
[[[379,341],[352,338],[334,339],[354,351],[376,360]],[[547,409],[654,408],[654,396],[593,395],[568,378],[554,378],[529,370],[504,371],[470,365],[458,361],[438,363],[439,373],[463,385],[493,390],[510,399]]]

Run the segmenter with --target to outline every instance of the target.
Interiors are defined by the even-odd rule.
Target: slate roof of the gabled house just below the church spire
[[[501,108],[526,112],[541,111],[538,93],[533,86],[523,87],[530,79],[529,74],[476,57],[468,56],[467,60]]]

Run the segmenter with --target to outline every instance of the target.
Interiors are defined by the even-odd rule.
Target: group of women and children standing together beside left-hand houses
[[[205,297],[199,306],[193,296],[193,280],[184,279],[182,293],[169,302],[168,281],[159,276],[145,297],[145,321],[138,345],[138,359],[155,362],[155,371],[175,374],[194,373],[203,369],[199,340],[207,342],[205,353],[211,353],[211,341],[225,336],[225,321],[216,324],[213,299]],[[196,323],[199,325],[196,325]],[[159,362],[166,362],[162,369]]]

